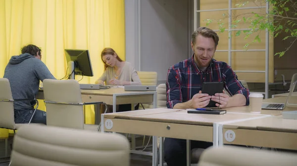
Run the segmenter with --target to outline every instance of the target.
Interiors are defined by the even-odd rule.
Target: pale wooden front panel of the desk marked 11
[[[106,128],[105,122],[107,120],[109,121],[109,124],[112,124],[111,129]],[[104,118],[104,131],[200,140],[207,142],[213,141],[212,126]]]

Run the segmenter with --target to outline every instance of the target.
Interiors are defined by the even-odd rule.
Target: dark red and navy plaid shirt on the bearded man
[[[191,100],[202,89],[203,82],[224,82],[224,87],[231,96],[243,94],[247,99],[246,105],[249,104],[249,90],[237,79],[227,63],[212,59],[206,70],[202,71],[193,58],[194,56],[169,68],[166,82],[168,108]]]

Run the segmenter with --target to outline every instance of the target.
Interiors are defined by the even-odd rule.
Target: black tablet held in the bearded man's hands
[[[202,94],[208,94],[213,96],[216,93],[223,93],[224,82],[203,82],[202,84]],[[217,107],[215,104],[217,102],[210,100],[206,107]]]

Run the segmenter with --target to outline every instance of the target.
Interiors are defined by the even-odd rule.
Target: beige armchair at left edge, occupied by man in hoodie
[[[13,99],[11,94],[10,83],[7,78],[0,78],[0,128],[10,129],[15,132],[20,126],[28,125],[32,121],[32,117],[28,124],[15,124],[13,101],[35,100],[37,106],[32,117],[38,108],[38,100],[36,99]],[[8,138],[5,138],[5,156],[8,156]]]

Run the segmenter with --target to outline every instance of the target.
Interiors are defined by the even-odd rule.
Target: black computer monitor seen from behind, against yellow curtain
[[[65,56],[70,79],[75,79],[75,75],[93,76],[89,50],[65,49]]]

